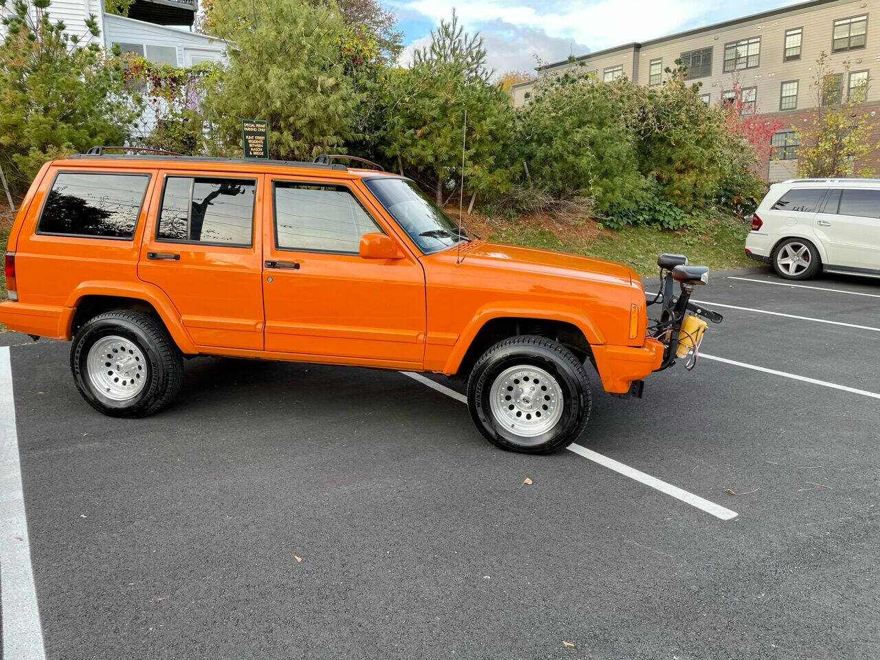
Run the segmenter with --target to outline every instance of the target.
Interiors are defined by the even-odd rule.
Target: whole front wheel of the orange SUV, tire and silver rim
[[[480,433],[510,451],[546,454],[573,443],[590,417],[590,381],[560,343],[500,341],[473,366],[467,407]]]

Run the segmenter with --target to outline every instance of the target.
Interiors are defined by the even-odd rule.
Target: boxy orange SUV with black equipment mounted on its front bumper
[[[72,339],[74,382],[104,414],[165,407],[184,356],[433,371],[467,378],[491,442],[542,453],[586,425],[585,363],[606,392],[641,396],[677,356],[693,365],[698,317],[721,320],[689,303],[708,269],[681,255],[658,261],[649,327],[631,268],[471,238],[413,181],[342,157],[106,149],[40,170],[0,303],[12,330]]]

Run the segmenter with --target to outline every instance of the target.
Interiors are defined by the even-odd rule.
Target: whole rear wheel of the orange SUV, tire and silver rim
[[[157,319],[141,312],[87,321],[70,347],[70,370],[84,400],[113,417],[155,413],[183,380],[180,350]]]

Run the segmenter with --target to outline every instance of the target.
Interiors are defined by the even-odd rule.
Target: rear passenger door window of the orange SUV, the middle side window
[[[253,179],[165,178],[158,240],[218,246],[253,245]]]

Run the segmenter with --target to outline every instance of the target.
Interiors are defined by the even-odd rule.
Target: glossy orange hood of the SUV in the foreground
[[[455,253],[455,248],[444,251]],[[583,279],[616,279],[624,280],[627,284],[640,281],[639,276],[632,268],[604,259],[583,257],[577,254],[542,250],[536,247],[509,246],[503,243],[488,243],[474,241],[462,249],[461,256],[467,261],[480,261],[482,265],[487,262],[497,262],[501,268],[516,268],[517,270],[543,273],[546,275],[560,275],[564,277],[583,277]]]

